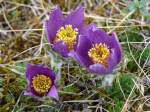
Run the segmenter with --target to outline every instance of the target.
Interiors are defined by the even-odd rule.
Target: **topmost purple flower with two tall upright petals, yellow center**
[[[83,25],[83,7],[71,12],[66,17],[63,16],[59,7],[52,11],[46,21],[45,30],[53,50],[63,57],[68,57],[68,54],[76,47],[77,38]]]

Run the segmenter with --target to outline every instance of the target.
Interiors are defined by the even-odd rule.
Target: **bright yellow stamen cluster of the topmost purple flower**
[[[57,34],[55,42],[64,41],[67,44],[69,51],[74,49],[74,45],[76,44],[76,38],[78,35],[78,29],[72,28],[72,25],[65,25],[65,27],[61,27]]]

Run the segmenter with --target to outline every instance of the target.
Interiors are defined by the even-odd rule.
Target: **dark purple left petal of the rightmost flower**
[[[79,36],[78,45],[74,53],[74,58],[79,61],[81,65],[88,67],[92,64],[88,56],[88,50],[92,47],[90,40],[86,36]]]

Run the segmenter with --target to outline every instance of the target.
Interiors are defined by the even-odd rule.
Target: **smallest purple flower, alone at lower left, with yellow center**
[[[28,87],[25,95],[53,97],[58,99],[55,86],[55,73],[44,65],[27,65],[26,78]]]

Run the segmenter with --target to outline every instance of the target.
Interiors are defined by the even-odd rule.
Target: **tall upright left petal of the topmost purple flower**
[[[63,25],[64,16],[59,7],[57,7],[51,14],[48,21],[46,21],[46,33],[50,43],[53,42],[57,31]]]

